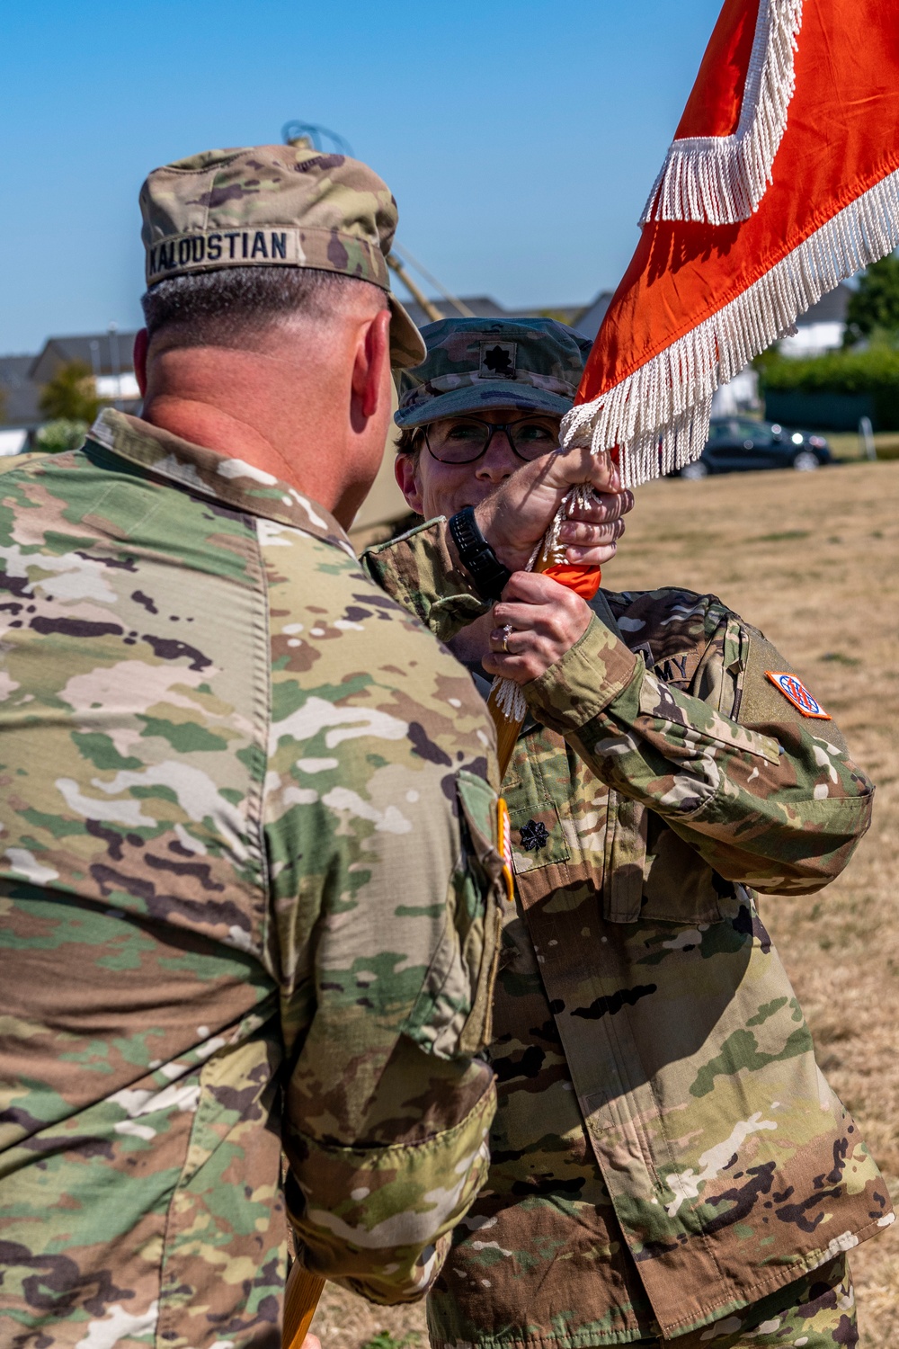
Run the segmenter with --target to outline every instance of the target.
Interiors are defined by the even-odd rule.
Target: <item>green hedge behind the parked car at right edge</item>
[[[869,398],[875,430],[899,430],[899,351],[891,347],[832,351],[798,360],[771,355],[759,366],[766,402],[776,405],[783,395],[806,395],[802,402],[811,411],[814,403],[807,395],[817,395],[819,425],[824,426],[826,407],[834,406],[834,395],[846,401]],[[768,398],[770,394],[774,397]]]

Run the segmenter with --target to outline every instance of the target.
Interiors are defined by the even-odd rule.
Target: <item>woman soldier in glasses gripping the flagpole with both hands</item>
[[[756,894],[833,880],[871,784],[716,596],[588,603],[524,571],[589,344],[550,320],[423,335],[396,475],[427,522],[367,565],[484,692],[507,676],[528,706],[503,782],[492,1161],[429,1299],[433,1344],[853,1345],[845,1252],[894,1215]],[[616,486],[609,465],[562,526],[570,563],[613,553]]]

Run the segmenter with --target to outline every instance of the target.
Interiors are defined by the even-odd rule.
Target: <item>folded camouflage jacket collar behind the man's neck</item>
[[[213,496],[235,510],[292,525],[356,557],[353,545],[334,517],[282,482],[243,459],[194,445],[128,413],[104,409],[90,428],[90,440],[128,463],[166,478],[189,492]]]

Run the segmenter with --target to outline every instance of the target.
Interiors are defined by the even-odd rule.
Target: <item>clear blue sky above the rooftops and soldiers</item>
[[[213,146],[341,132],[457,294],[613,287],[720,0],[28,0],[0,19],[0,352],[139,324],[137,189]]]

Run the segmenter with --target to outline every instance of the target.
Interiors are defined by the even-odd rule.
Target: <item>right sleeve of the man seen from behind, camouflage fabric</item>
[[[465,670],[357,571],[332,603],[333,553],[313,668],[298,643],[272,669],[264,776],[287,1207],[309,1268],[394,1303],[427,1291],[487,1170],[496,768]]]

